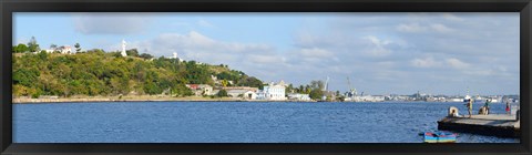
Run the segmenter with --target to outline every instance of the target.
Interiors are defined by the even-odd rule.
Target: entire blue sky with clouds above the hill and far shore
[[[228,64],[295,85],[330,78],[365,94],[519,94],[519,12],[14,13],[13,44],[35,37]]]

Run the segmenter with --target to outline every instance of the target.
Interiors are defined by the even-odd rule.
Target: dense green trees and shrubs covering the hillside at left
[[[17,50],[20,49],[13,48],[13,52]],[[211,75],[233,81],[234,85],[262,86],[260,80],[229,70],[227,65],[178,62],[167,58],[152,60],[152,55],[139,54],[134,49],[127,50],[131,54],[127,58],[98,49],[75,54],[17,52],[12,70],[14,96],[163,93],[186,96],[192,92],[185,84],[215,86]]]

